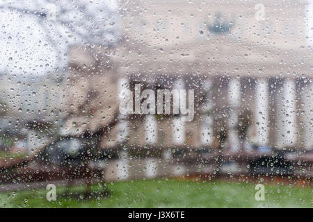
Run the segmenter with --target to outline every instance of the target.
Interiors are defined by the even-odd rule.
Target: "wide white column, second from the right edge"
[[[296,146],[296,82],[284,80],[278,98],[278,148]]]

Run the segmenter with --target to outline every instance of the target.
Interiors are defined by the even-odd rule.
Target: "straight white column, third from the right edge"
[[[259,79],[256,83],[255,123],[257,143],[259,146],[268,145],[268,83],[266,79]]]

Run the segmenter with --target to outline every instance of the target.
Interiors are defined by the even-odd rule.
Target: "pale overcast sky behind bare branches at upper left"
[[[0,0],[0,71],[42,76],[67,66],[71,44],[117,41],[115,0]]]

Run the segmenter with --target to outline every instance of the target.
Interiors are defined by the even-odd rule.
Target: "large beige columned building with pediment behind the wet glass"
[[[95,73],[113,72],[119,94],[135,83],[195,89],[195,118],[119,114],[101,146],[204,148],[222,142],[238,151],[246,139],[279,150],[312,149],[306,10],[305,1],[121,1],[122,40],[99,49],[111,71]]]

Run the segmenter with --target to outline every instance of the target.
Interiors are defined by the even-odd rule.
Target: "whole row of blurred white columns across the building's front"
[[[311,149],[313,146],[313,102],[312,102],[312,86],[313,83],[306,85],[303,90],[303,132],[302,140],[303,146]],[[209,110],[213,108],[211,87],[213,83],[211,80],[205,80],[203,89],[207,91],[207,100],[202,107],[202,122],[200,126],[200,143],[202,145],[210,146],[214,141],[213,137],[213,122],[214,119]],[[176,80],[174,83],[175,89],[185,89],[185,84],[182,80]],[[129,83],[126,78],[121,78],[119,82],[120,96],[125,94],[125,90],[129,89]],[[276,95],[276,110],[275,119],[269,120],[270,105],[269,105],[269,85],[266,78],[256,80],[255,85],[255,134],[257,144],[259,146],[266,146],[269,144],[269,128],[275,126],[275,144],[277,148],[284,148],[287,146],[296,146],[297,135],[297,119],[296,119],[296,82],[295,80],[284,80],[284,85],[278,89]],[[122,98],[122,97],[120,97]],[[239,151],[241,142],[238,134],[239,123],[239,109],[241,108],[241,81],[239,78],[231,78],[228,84],[227,99],[230,105],[230,112],[228,118],[228,143],[232,151]],[[128,123],[125,117],[120,114],[120,122],[118,123],[118,142],[123,143],[129,132]],[[275,125],[273,125],[275,121]],[[175,116],[172,119],[172,144],[182,145],[185,142],[186,126],[182,117]],[[145,116],[145,141],[147,144],[157,143],[157,119],[154,114],[147,114]]]

